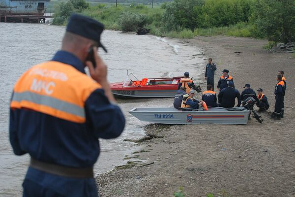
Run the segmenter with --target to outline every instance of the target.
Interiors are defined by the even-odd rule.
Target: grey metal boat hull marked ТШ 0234
[[[214,107],[208,111],[180,111],[170,107],[134,108],[129,113],[141,121],[169,125],[247,124],[249,111],[242,109],[243,107],[230,109]]]

